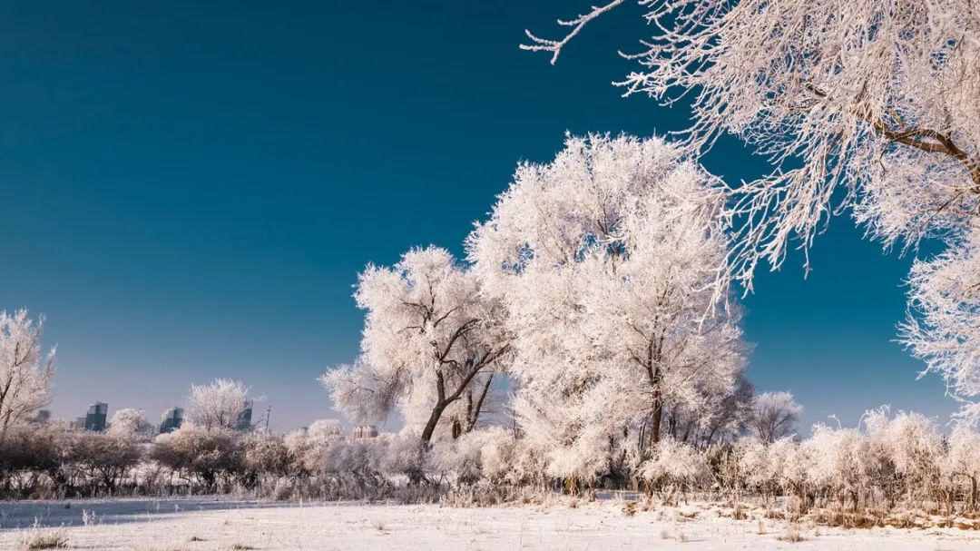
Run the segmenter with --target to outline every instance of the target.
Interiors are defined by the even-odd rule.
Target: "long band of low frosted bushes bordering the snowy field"
[[[0,444],[0,488],[22,498],[218,492],[466,505],[589,499],[608,488],[664,503],[697,495],[736,514],[752,502],[790,518],[832,510],[882,524],[898,511],[980,510],[980,433],[944,435],[918,414],[876,410],[858,428],[816,426],[802,441],[752,436],[697,448],[665,437],[656,453],[631,449],[613,439],[603,463],[576,462],[499,426],[428,446],[416,433],[351,438],[323,424],[285,436],[184,426],[149,442],[35,426]]]

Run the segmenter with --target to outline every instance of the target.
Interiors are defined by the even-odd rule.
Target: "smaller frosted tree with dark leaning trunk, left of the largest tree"
[[[479,279],[445,249],[413,249],[394,267],[368,266],[355,299],[367,311],[362,356],[320,377],[334,406],[357,422],[397,408],[425,443],[439,426],[471,430],[510,350]]]

